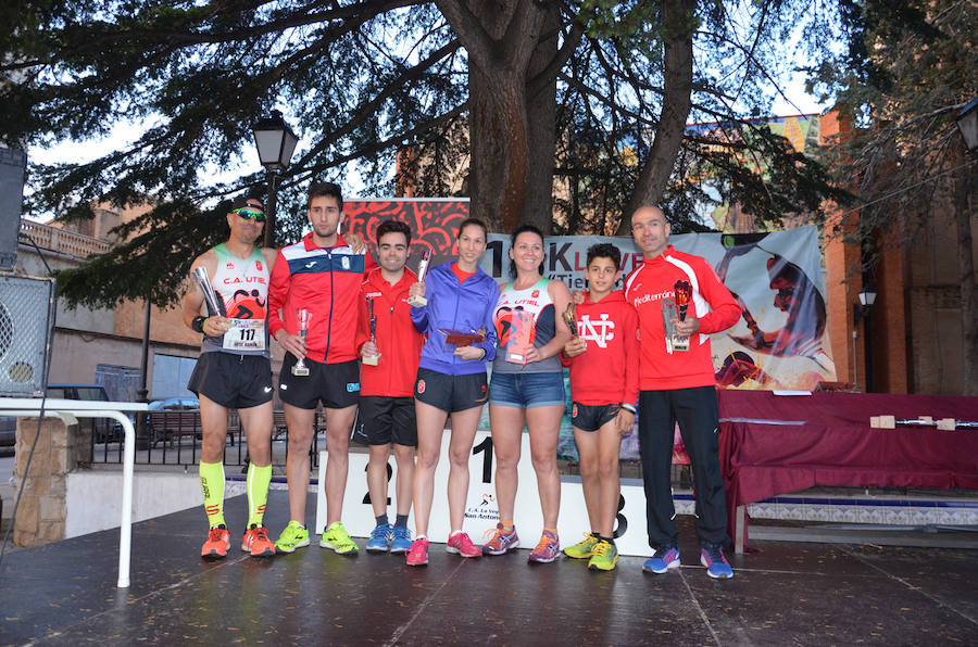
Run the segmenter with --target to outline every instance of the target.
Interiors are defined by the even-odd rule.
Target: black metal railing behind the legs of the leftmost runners
[[[136,420],[136,465],[193,466],[200,461],[202,429],[199,409],[149,411],[146,420]],[[87,421],[79,421],[79,424]],[[123,437],[120,426],[103,420],[91,427],[79,428],[90,437],[89,462],[96,465],[122,464]],[[310,448],[310,467],[319,462],[319,443],[325,444],[326,417],[322,410],[313,418],[313,442]],[[322,437],[321,437],[322,436]],[[283,411],[275,411],[272,426],[272,465],[284,467],[288,449],[289,431]],[[225,466],[246,466],[248,446],[237,413],[231,411],[227,421],[227,441],[224,449]]]

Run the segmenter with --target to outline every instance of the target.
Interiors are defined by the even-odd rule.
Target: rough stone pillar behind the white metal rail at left
[[[28,472],[27,457],[37,435],[37,418],[17,419],[13,474],[18,483],[26,478],[13,531],[17,546],[39,546],[65,537],[67,473],[87,456],[89,434],[90,431],[79,431],[77,423],[46,418]]]

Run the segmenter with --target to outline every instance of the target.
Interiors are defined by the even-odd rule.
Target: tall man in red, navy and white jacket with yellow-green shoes
[[[305,495],[309,490],[309,449],[319,402],[326,409],[326,529],[319,546],[341,555],[355,555],[356,544],[340,517],[347,489],[350,430],[360,396],[356,360],[356,318],[360,284],[376,267],[373,257],[356,252],[338,233],[343,195],[333,182],[309,189],[306,217],[312,231],[278,251],[268,287],[268,332],[286,351],[278,378],[278,396],[289,426],[286,477],[289,481],[289,524],[275,547],[292,553],[309,546]],[[305,337],[300,334],[299,310],[309,315]],[[308,367],[294,373],[298,359]]]

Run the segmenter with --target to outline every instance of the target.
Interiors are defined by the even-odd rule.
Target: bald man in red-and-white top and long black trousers
[[[676,422],[689,453],[697,490],[697,533],[700,562],[711,578],[732,578],[723,549],[727,507],[719,469],[718,410],[710,350],[711,333],[726,330],[740,318],[740,306],[699,256],[668,244],[672,228],[662,210],[642,206],[631,216],[631,233],[643,262],[625,281],[625,296],[638,312],[641,346],[639,371],[639,443],[649,545],[655,549],[642,568],[665,573],[679,568],[679,533],[669,482]],[[692,287],[685,320],[676,332],[689,337],[689,350],[666,343],[662,301],[676,299],[676,281]]]

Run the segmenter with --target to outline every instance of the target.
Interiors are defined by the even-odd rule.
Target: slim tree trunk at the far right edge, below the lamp
[[[965,153],[967,155],[967,153]],[[957,223],[957,263],[961,269],[961,332],[964,384],[962,395],[978,395],[978,287],[971,251],[971,220],[975,210],[975,173],[965,168],[957,173],[954,194],[954,218]]]

